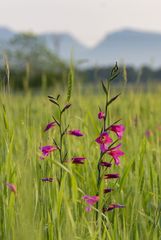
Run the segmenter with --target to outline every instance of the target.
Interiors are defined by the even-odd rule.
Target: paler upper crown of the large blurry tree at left
[[[32,33],[16,35],[7,50],[10,63],[16,68],[25,68],[26,63],[34,71],[60,71],[65,64],[51,52],[45,43]]]

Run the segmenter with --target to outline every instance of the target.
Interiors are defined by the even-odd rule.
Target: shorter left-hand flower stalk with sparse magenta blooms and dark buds
[[[70,89],[68,89],[68,90],[70,90]],[[67,101],[70,100],[70,94],[71,94],[71,92],[68,91]],[[48,145],[48,146],[44,146],[44,147],[40,148],[40,150],[42,151],[42,156],[40,157],[40,159],[44,159],[51,152],[53,152],[54,150],[57,149],[59,151],[59,161],[62,165],[66,162],[72,162],[73,164],[84,164],[84,161],[86,159],[85,157],[73,157],[69,161],[66,160],[68,151],[65,149],[65,139],[64,139],[65,136],[67,134],[73,135],[76,137],[84,136],[84,134],[79,129],[68,130],[69,125],[64,126],[65,124],[64,124],[63,114],[65,111],[67,111],[71,107],[71,104],[68,102],[65,105],[63,104],[63,107],[62,107],[61,102],[60,102],[60,98],[61,98],[60,95],[58,95],[56,98],[52,97],[52,96],[48,96],[48,98],[49,98],[49,101],[57,107],[59,117],[55,118],[55,116],[53,116],[54,121],[48,123],[47,126],[45,127],[44,131],[46,132],[49,129],[57,126],[58,140],[56,140],[55,138],[53,139],[53,143],[55,146]],[[60,167],[59,174],[56,177],[56,179],[59,183],[59,187],[61,185],[62,176],[63,176],[63,168]],[[52,178],[42,178],[41,180],[43,182],[52,182],[53,181]]]

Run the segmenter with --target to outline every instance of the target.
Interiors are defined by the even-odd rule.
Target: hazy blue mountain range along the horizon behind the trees
[[[17,33],[0,28],[0,51]],[[44,33],[39,38],[62,59],[69,61],[71,53],[76,61],[87,59],[88,66],[107,66],[119,63],[134,66],[161,66],[161,34],[125,29],[108,34],[95,47],[88,48],[68,33]]]

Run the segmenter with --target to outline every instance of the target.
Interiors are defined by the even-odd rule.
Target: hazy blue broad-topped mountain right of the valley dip
[[[90,59],[98,65],[118,60],[135,66],[161,66],[161,34],[132,30],[114,32],[91,50]]]

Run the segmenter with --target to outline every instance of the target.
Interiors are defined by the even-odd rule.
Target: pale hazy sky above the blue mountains
[[[0,26],[70,32],[94,45],[127,27],[161,32],[161,0],[0,0]]]

